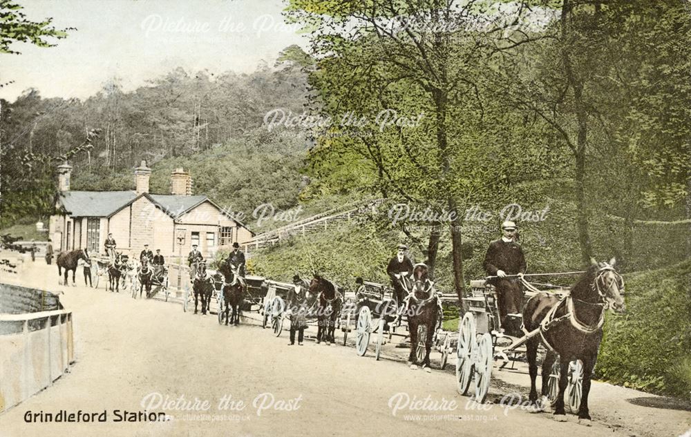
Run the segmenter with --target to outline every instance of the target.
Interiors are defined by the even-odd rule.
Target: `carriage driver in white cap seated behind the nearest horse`
[[[482,266],[493,276],[489,282],[497,289],[500,322],[506,327],[507,314],[521,311],[523,293],[518,277],[525,273],[526,264],[523,249],[515,242],[516,224],[509,220],[502,223],[502,233],[499,240],[489,244]]]

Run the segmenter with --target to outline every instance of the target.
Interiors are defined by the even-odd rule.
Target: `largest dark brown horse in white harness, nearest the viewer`
[[[538,404],[535,380],[538,375],[536,363],[540,338],[547,347],[547,355],[542,362],[542,405],[547,402],[547,382],[557,355],[560,358],[559,394],[554,403],[554,418],[566,420],[564,411],[564,391],[567,387],[569,362],[583,362],[583,391],[578,422],[589,425],[588,394],[591,373],[598,358],[600,341],[603,338],[605,310],[612,313],[626,311],[624,280],[614,270],[616,259],[609,262],[596,262],[591,265],[576,284],[571,287],[567,297],[559,300],[547,293],[538,293],[526,302],[523,309],[523,324],[526,333],[540,329],[540,336],[534,336],[526,344],[530,373],[529,400]]]

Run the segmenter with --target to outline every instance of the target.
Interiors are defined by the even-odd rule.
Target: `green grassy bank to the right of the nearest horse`
[[[661,394],[691,391],[691,262],[626,280],[625,315],[608,317],[596,376]]]

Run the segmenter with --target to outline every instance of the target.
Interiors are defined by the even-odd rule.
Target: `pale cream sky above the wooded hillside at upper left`
[[[43,97],[97,93],[117,77],[133,90],[165,72],[252,72],[291,44],[307,47],[285,23],[281,0],[15,0],[32,21],[77,28],[57,46],[15,43],[21,55],[0,54],[0,98],[28,88]]]

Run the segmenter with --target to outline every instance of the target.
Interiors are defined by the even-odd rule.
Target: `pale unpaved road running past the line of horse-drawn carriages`
[[[79,279],[79,275],[77,275]],[[179,304],[133,300],[129,293],[58,287],[57,268],[42,260],[20,278],[2,278],[51,291],[73,311],[75,355],[71,372],[0,415],[0,436],[679,436],[691,427],[688,411],[640,407],[640,392],[594,384],[592,427],[558,423],[502,405],[478,405],[455,391],[448,372],[413,371],[396,360],[356,356],[352,347],[307,341],[287,346],[256,325],[220,326],[214,316],[183,313]],[[81,282],[78,281],[81,284]],[[495,372],[493,393],[507,394],[528,377]],[[502,380],[504,382],[502,382]],[[520,391],[520,387],[517,389]],[[524,390],[524,388],[522,389]],[[609,395],[608,395],[609,393]],[[149,396],[150,394],[154,394]],[[155,394],[207,400],[205,411],[153,405],[173,420],[114,422],[114,410],[143,411]],[[149,396],[147,398],[147,396]],[[227,409],[219,401],[230,396]],[[430,407],[404,407],[429,396]],[[616,398],[616,402],[612,400]],[[254,405],[258,399],[263,408]],[[390,402],[401,406],[392,411]],[[241,408],[237,401],[245,402]],[[452,404],[450,402],[455,402]],[[410,404],[408,404],[410,405]],[[286,411],[290,409],[292,411]],[[27,411],[106,411],[104,423],[25,423]],[[261,410],[261,411],[260,411]],[[603,411],[608,411],[606,414]],[[636,423],[634,420],[638,419]]]

